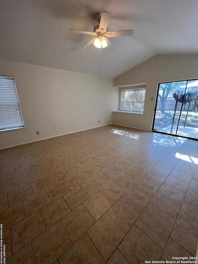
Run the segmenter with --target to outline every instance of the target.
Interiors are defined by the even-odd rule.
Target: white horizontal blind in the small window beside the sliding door
[[[146,88],[123,89],[121,91],[120,111],[143,114]]]

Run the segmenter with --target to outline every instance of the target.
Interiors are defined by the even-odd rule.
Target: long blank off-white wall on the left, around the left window
[[[27,127],[0,133],[0,149],[112,123],[118,109],[112,79],[7,60],[0,75],[14,76]]]

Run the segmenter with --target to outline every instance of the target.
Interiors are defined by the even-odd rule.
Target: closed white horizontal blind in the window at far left
[[[24,127],[15,81],[0,76],[0,131]]]

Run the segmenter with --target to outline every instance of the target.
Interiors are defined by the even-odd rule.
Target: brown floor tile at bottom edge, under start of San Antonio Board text
[[[127,233],[118,249],[131,264],[144,263],[145,260],[160,260],[163,252],[136,225]]]

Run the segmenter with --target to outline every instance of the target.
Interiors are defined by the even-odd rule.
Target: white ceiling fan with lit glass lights
[[[95,17],[97,20],[98,25],[93,28],[93,32],[73,29],[71,28],[71,32],[81,33],[81,34],[88,34],[94,36],[94,38],[85,44],[82,48],[90,46],[92,43],[95,45],[96,48],[105,48],[110,44],[108,37],[127,37],[133,35],[133,30],[118,30],[118,31],[107,31],[107,26],[109,24],[111,15],[108,12],[98,13]]]

